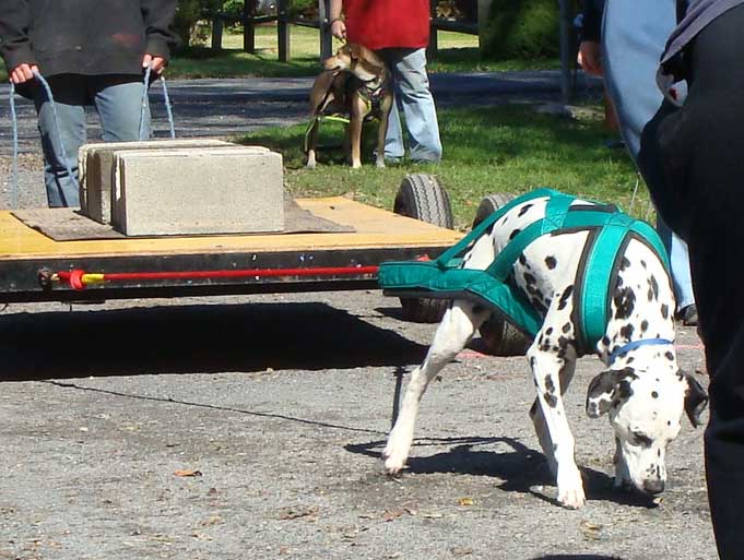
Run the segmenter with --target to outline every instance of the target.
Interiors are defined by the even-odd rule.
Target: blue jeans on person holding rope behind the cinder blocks
[[[55,97],[59,131],[42,84],[34,87],[34,104],[44,151],[44,182],[49,207],[80,206],[78,150],[86,141],[85,106],[101,118],[105,142],[140,140],[144,84],[137,75],[60,74],[47,79]],[[144,111],[143,139],[150,138],[150,110]],[[62,150],[63,147],[63,150]],[[72,170],[70,177],[62,153]]]

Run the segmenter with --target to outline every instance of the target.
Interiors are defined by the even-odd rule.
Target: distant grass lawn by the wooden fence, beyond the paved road
[[[215,53],[206,47],[194,47],[175,57],[168,68],[169,78],[244,78],[314,75],[320,70],[318,31],[292,26],[290,62],[279,62],[276,28],[256,29],[256,53],[243,52],[240,32],[226,32],[223,50]],[[559,68],[557,59],[482,61],[477,37],[461,33],[439,32],[439,53],[429,64],[432,72],[474,72],[497,70],[543,70]],[[334,46],[341,45],[334,40]]]

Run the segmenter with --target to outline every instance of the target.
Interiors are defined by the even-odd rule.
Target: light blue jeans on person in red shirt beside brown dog
[[[434,97],[426,74],[425,49],[381,49],[377,53],[392,73],[395,103],[392,104],[385,157],[400,159],[405,152],[399,110],[405,117],[409,147],[414,162],[439,162],[441,141]]]

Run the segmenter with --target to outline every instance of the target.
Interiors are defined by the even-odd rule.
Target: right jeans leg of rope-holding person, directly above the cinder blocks
[[[105,142],[150,139],[150,106],[142,112],[144,84],[137,75],[103,75],[90,79],[91,96]],[[142,138],[140,123],[142,122]]]

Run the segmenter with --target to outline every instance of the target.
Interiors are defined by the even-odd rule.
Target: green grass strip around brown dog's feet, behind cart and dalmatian
[[[636,171],[625,150],[609,150],[609,134],[598,117],[569,119],[538,114],[531,106],[506,105],[439,111],[445,158],[439,165],[403,164],[376,169],[371,157],[351,169],[340,150],[320,153],[315,170],[304,168],[300,146],[305,126],[272,128],[240,138],[284,155],[285,181],[296,196],[349,195],[359,202],[392,208],[398,187],[409,172],[436,175],[452,203],[457,227],[470,227],[481,200],[494,192],[521,193],[552,187],[590,199],[615,202],[628,211]],[[366,131],[365,154],[371,154]],[[321,144],[339,144],[340,124],[321,129]],[[631,213],[646,217],[648,195],[642,184]]]

